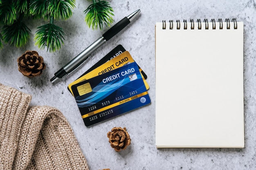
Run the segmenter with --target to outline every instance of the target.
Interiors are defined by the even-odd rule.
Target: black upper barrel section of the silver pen
[[[110,38],[112,38],[114,35],[119,33],[124,27],[126,27],[130,23],[130,20],[125,17],[121,21],[117,22],[114,26],[112,26],[106,33],[104,33],[102,36],[103,38],[108,41]]]

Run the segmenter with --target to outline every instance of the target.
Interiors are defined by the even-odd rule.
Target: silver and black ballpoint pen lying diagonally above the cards
[[[117,22],[117,24],[108,29],[108,31],[106,31],[106,33],[104,33],[98,40],[93,42],[83,52],[74,57],[70,62],[68,62],[60,70],[54,73],[54,77],[52,77],[50,81],[53,83],[59,78],[63,79],[67,77],[67,75],[70,75],[73,71],[75,71],[77,68],[79,68],[79,66],[81,66],[88,60],[92,52],[96,51],[105,42],[110,40],[110,38],[112,38],[114,35],[119,33],[119,31],[124,29],[124,27],[126,27],[134,18],[137,17],[139,12],[140,9],[123,18],[121,21]]]

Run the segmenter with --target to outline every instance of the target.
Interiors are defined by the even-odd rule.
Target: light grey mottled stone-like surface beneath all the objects
[[[55,21],[65,31],[61,50],[49,53],[34,45],[36,26],[45,21],[29,20],[29,43],[20,49],[4,44],[0,51],[0,83],[12,86],[33,96],[31,106],[49,105],[61,110],[71,124],[90,170],[253,170],[256,169],[256,0],[110,0],[115,10],[115,23],[131,12],[141,9],[135,22],[104,44],[89,62],[78,71],[55,84],[49,79],[106,31],[92,31],[84,22],[83,11],[90,4],[76,0],[76,8],[69,20]],[[157,149],[155,147],[155,22],[162,20],[190,20],[204,18],[236,18],[244,22],[244,101],[245,148],[243,149]],[[170,40],[171,41],[171,40]],[[79,109],[67,85],[95,64],[118,44],[130,52],[148,75],[152,103],[103,123],[85,127]],[[17,66],[17,58],[26,50],[36,50],[44,57],[46,70],[35,78],[24,77]],[[166,49],[167,50],[167,49]],[[213,49],[214,51],[214,49]],[[218,53],[218,51],[216,51]],[[131,145],[121,152],[110,147],[107,132],[112,127],[126,127]]]

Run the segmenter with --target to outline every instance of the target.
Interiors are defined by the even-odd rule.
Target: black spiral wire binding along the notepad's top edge
[[[166,29],[166,21],[163,20],[162,22],[163,22],[163,29]],[[169,20],[169,22],[170,22],[169,29],[173,29],[173,20]],[[180,29],[180,20],[176,20],[176,22],[177,22],[177,29]],[[184,29],[187,29],[187,22],[186,22],[186,20],[183,20],[183,22],[184,22]],[[211,22],[212,22],[212,29],[216,29],[215,19],[211,19]],[[220,23],[220,28],[219,29],[223,29],[222,19],[219,18],[218,22]],[[227,29],[230,29],[229,19],[225,19],[225,22],[227,22]],[[236,18],[233,18],[231,20],[231,22],[234,22],[234,29],[237,29]],[[190,23],[191,23],[191,28],[190,29],[194,29],[194,20],[191,19]],[[200,19],[197,20],[197,23],[198,23],[198,29],[202,29],[202,24],[201,24],[201,20]],[[209,23],[208,23],[207,19],[204,19],[204,23],[205,23],[205,29],[209,29]]]

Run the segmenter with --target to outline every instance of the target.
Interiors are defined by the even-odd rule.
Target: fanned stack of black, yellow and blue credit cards
[[[68,85],[85,126],[150,104],[147,75],[118,45]]]

